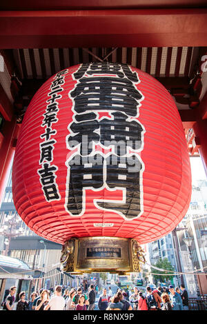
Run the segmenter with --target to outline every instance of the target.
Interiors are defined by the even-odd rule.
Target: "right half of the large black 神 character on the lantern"
[[[113,146],[115,154],[121,156],[127,152],[127,147],[133,150],[141,148],[141,132],[143,128],[138,121],[126,121],[128,117],[121,112],[111,113],[114,119],[101,119],[101,144]]]

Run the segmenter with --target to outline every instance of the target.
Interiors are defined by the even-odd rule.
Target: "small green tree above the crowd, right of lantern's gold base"
[[[175,269],[172,267],[172,264],[168,261],[167,258],[159,259],[157,261],[157,263],[155,263],[155,267],[158,267],[160,269],[166,269],[166,274],[169,273],[169,270],[170,271],[175,271]],[[154,279],[156,281],[160,281],[161,283],[164,283],[165,281],[171,280],[175,276],[174,274],[172,274],[170,276],[161,276],[160,274],[164,274],[165,272],[159,271],[159,270],[153,269],[153,268],[151,270],[151,273],[156,273],[156,274],[152,274],[152,276],[154,276]]]

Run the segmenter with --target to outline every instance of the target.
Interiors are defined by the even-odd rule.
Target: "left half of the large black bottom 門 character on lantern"
[[[66,210],[72,216],[79,216],[86,207],[84,188],[97,189],[103,186],[103,156],[95,154],[84,163],[84,157],[77,154],[68,161],[68,168],[70,176]]]

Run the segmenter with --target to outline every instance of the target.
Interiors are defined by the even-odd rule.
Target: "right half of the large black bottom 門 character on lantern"
[[[117,163],[115,163],[117,161]],[[123,214],[126,219],[134,219],[141,212],[140,172],[141,162],[136,155],[132,155],[123,163],[119,156],[110,154],[106,159],[106,183],[110,189],[124,188],[124,203],[99,202],[101,209],[113,210]],[[124,198],[125,198],[124,197]]]

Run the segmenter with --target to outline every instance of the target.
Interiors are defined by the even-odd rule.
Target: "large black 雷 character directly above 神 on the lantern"
[[[91,77],[82,78],[70,92],[74,98],[74,110],[78,114],[88,111],[119,111],[127,116],[137,116],[142,94],[127,78]]]

